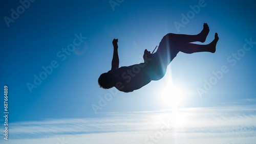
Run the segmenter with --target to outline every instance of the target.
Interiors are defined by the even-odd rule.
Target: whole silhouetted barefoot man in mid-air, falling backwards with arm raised
[[[194,44],[190,42],[204,42],[209,33],[207,23],[204,23],[203,30],[197,35],[166,34],[159,43],[156,53],[151,54],[144,51],[144,63],[131,66],[119,67],[118,39],[112,41],[114,54],[112,68],[108,73],[101,74],[98,84],[104,89],[116,87],[123,92],[132,92],[153,81],[158,81],[165,75],[168,64],[179,52],[192,54],[197,52],[215,53],[216,44],[219,40],[215,33],[215,39],[206,45]]]

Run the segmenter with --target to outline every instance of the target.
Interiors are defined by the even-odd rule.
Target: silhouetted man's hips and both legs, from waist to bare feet
[[[160,80],[165,75],[167,65],[176,57],[179,51],[188,54],[206,51],[214,53],[219,39],[217,34],[215,40],[207,45],[189,43],[195,41],[204,42],[208,33],[209,27],[207,23],[204,23],[203,30],[197,35],[166,34],[159,43],[157,52],[152,56],[154,59],[154,63],[152,63],[152,80]]]

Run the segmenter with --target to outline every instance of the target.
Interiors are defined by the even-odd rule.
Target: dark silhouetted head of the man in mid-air
[[[113,85],[111,85],[111,83],[112,83],[111,75],[112,75],[111,73],[101,74],[98,79],[99,86],[104,89],[112,88]]]

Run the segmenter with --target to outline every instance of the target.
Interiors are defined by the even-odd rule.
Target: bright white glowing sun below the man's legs
[[[162,101],[167,104],[167,106],[171,107],[173,110],[176,110],[179,104],[182,102],[183,99],[183,91],[173,85],[168,84],[162,89],[161,98]]]

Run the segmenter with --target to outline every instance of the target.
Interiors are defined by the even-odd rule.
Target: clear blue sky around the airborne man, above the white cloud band
[[[183,91],[180,108],[212,107],[219,110],[219,107],[235,106],[244,111],[247,107],[255,109],[254,1],[113,2],[120,4],[113,8],[109,1],[32,1],[30,5],[26,3],[27,8],[12,22],[6,22],[6,17],[12,18],[12,9],[17,11],[23,6],[22,3],[1,2],[0,77],[2,92],[4,85],[9,88],[8,122],[13,123],[13,129],[18,131],[20,127],[16,126],[20,123],[32,121],[40,124],[46,119],[54,119],[55,123],[66,122],[70,118],[86,119],[84,121],[95,118],[104,122],[105,114],[112,112],[118,113],[118,118],[122,119],[125,118],[122,113],[126,112],[169,109],[160,98],[167,83],[173,83]],[[203,7],[190,15],[183,27],[176,28],[175,22],[182,24],[182,14],[187,16],[192,11],[190,6],[195,7],[199,3]],[[114,38],[119,39],[120,66],[128,66],[141,62],[144,50],[153,51],[165,34],[198,34],[204,22],[210,28],[205,43],[212,41],[216,32],[219,34],[215,54],[179,53],[168,66],[163,79],[132,93],[123,93],[115,88],[112,91],[99,88],[99,75],[111,68]],[[77,38],[79,36],[80,39]],[[71,49],[74,41],[74,51],[65,53],[63,49]],[[252,41],[251,44],[248,41]],[[49,65],[56,68],[47,74],[42,67]],[[218,73],[223,66],[226,73],[222,72],[218,79],[213,71]],[[35,77],[40,74],[47,74],[44,75],[47,78],[30,90],[27,83],[34,84]],[[205,83],[211,80],[217,81],[205,90]],[[198,89],[206,92],[200,95]],[[99,97],[104,98],[105,95],[112,95],[112,98],[96,114],[92,105],[99,106]],[[0,103],[3,101],[4,98],[0,99]],[[3,113],[4,108],[1,111]],[[233,112],[237,112],[237,109],[233,109]],[[255,111],[250,116],[255,120]],[[118,118],[114,118],[115,121],[119,121]],[[4,119],[0,121],[2,123]],[[89,122],[94,123],[94,120]],[[244,122],[247,122],[246,118],[237,125],[242,126]],[[255,124],[252,126],[255,127]],[[3,125],[1,127],[4,128]],[[131,126],[130,131],[134,131],[133,128]],[[95,129],[92,127],[79,134],[95,133]],[[61,130],[56,133],[61,134]]]

